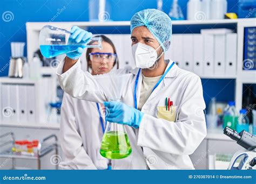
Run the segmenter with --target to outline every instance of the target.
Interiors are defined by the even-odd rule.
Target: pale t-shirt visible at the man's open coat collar
[[[139,110],[142,110],[143,105],[147,101],[147,98],[149,98],[149,96],[151,95],[154,86],[156,86],[161,76],[162,75],[157,77],[145,77],[143,75],[142,88],[140,89],[140,98],[139,98],[139,106],[138,106]]]

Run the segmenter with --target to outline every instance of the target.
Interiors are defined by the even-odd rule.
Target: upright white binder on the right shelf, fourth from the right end
[[[194,34],[194,58],[193,58],[193,72],[199,76],[203,76],[203,36],[201,34]]]

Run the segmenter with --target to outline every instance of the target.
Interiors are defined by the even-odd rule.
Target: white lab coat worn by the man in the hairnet
[[[171,65],[169,62],[167,68]],[[73,97],[103,103],[110,100],[107,94],[109,82],[104,82],[106,74],[92,76],[80,69],[80,62],[62,73],[64,61],[57,67],[60,86]],[[125,85],[122,101],[134,107],[134,81],[139,68],[119,69],[112,74],[131,73]],[[137,87],[139,103],[142,74]],[[105,81],[109,80],[105,77]],[[174,114],[163,111],[165,97],[170,97],[174,105]],[[159,110],[162,109],[162,110]],[[206,136],[203,88],[200,77],[174,65],[164,80],[153,91],[142,107],[145,113],[139,129],[126,126],[132,146],[132,154],[120,160],[112,160],[113,169],[194,169],[189,157]],[[158,118],[159,114],[167,116]]]

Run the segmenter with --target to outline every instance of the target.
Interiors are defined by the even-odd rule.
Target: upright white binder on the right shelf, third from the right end
[[[214,35],[204,34],[204,76],[213,76]]]

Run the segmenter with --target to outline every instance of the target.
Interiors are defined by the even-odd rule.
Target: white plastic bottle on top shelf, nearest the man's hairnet
[[[202,2],[200,0],[190,0],[187,2],[187,19],[188,20],[198,20],[198,18],[200,18],[199,13],[202,10],[201,5],[202,5]]]

